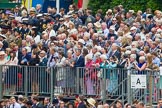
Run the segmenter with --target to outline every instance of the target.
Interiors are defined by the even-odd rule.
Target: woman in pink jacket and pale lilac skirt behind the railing
[[[89,95],[94,94],[94,80],[93,80],[93,74],[94,74],[94,69],[93,69],[93,60],[92,60],[92,54],[87,55],[87,63],[85,65],[85,86],[86,86],[86,92]]]

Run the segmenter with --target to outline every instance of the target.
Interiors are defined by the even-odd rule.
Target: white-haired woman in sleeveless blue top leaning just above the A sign
[[[136,64],[133,64],[133,65],[135,66],[135,69],[138,70],[138,74],[142,74],[143,71],[146,69],[146,59],[145,59],[145,57],[144,56],[141,56],[139,58],[138,65],[136,65]]]

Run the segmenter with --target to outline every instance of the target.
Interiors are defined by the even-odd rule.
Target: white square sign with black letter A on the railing
[[[146,75],[131,75],[131,88],[146,89]]]

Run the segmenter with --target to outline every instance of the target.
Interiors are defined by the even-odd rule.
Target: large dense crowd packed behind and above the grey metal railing
[[[51,67],[127,68],[136,69],[138,74],[144,70],[160,69],[160,10],[126,11],[119,5],[106,13],[102,13],[101,9],[95,15],[92,13],[90,9],[76,9],[74,5],[69,6],[67,13],[64,8],[57,13],[55,7],[48,7],[47,13],[43,13],[41,5],[29,10],[18,6],[13,10],[1,10],[0,64],[46,66],[47,73]],[[13,68],[7,70],[4,81],[10,78],[15,85],[16,72]],[[59,72],[56,76],[60,76]],[[92,70],[84,73],[87,93],[94,92],[94,82],[89,76],[92,73]],[[95,74],[95,77],[100,77]],[[117,74],[113,76],[118,77]],[[107,76],[107,79],[111,78]],[[118,78],[110,83],[117,85]],[[110,92],[112,88],[109,86],[107,89]],[[13,93],[14,90],[15,86]]]

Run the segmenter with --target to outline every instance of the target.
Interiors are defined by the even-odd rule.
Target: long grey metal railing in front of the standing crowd
[[[146,89],[131,88],[131,75],[141,74],[146,75]],[[103,101],[121,99],[132,103],[136,99],[147,103],[157,101],[159,92],[159,72],[155,71],[4,65],[0,66],[0,79],[0,98],[15,94],[49,95],[51,98],[57,94],[82,94]]]

